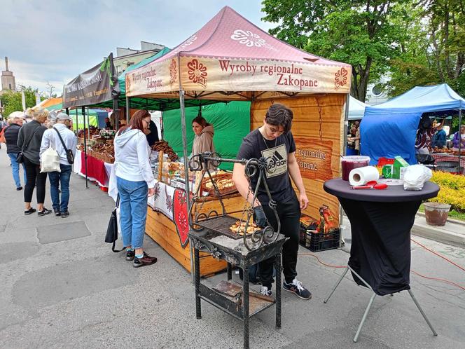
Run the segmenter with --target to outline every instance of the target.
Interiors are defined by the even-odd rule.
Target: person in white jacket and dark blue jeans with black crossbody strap
[[[52,146],[60,156],[60,172],[54,171],[48,173],[50,180],[50,196],[52,197],[53,212],[55,216],[62,218],[69,217],[68,203],[69,203],[69,179],[71,179],[71,163],[67,159],[66,150],[63,148],[60,136],[63,139],[64,146],[71,150],[73,156],[76,155],[76,144],[78,139],[74,132],[69,130],[71,118],[69,115],[60,113],[55,115],[53,119],[53,126],[43,133],[40,156],[44,151]],[[50,119],[49,119],[50,121]],[[60,136],[58,135],[60,133]],[[60,191],[58,186],[61,186],[62,197],[60,200]]]

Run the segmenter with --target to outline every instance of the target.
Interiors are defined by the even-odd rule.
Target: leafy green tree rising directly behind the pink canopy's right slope
[[[389,69],[399,48],[401,15],[396,6],[411,0],[264,0],[263,18],[278,23],[270,34],[315,55],[352,65],[352,91],[365,101],[370,81]]]

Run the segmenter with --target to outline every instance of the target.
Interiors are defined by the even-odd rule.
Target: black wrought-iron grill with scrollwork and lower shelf
[[[282,245],[286,241],[284,235],[279,234],[280,223],[276,211],[275,201],[272,200],[268,186],[264,180],[267,159],[251,160],[228,160],[214,157],[216,154],[200,153],[194,156],[189,163],[190,170],[205,171],[214,185],[215,193],[218,200],[221,201],[218,187],[208,170],[208,163],[214,163],[215,166],[221,162],[241,163],[245,165],[245,174],[248,179],[258,176],[258,183],[254,191],[254,200],[261,183],[270,198],[270,207],[275,212],[278,221],[277,231],[268,224],[263,228],[247,233],[247,229],[254,226],[252,222],[252,212],[247,207],[247,201],[242,211],[243,235],[240,234],[240,228],[237,232],[230,229],[237,222],[237,218],[231,217],[225,212],[210,212],[209,214],[193,214],[192,207],[199,199],[201,184],[197,185],[193,196],[193,205],[191,206],[189,224],[191,231],[189,233],[190,244],[194,249],[194,273],[195,273],[195,311],[197,319],[202,317],[200,301],[203,299],[208,303],[216,306],[239,320],[244,322],[244,348],[249,348],[249,318],[260,313],[276,304],[276,327],[281,327],[281,287],[276,288],[276,298],[263,296],[256,292],[249,291],[249,267],[258,264],[265,259],[275,257],[275,268],[277,270],[276,285],[281,285],[281,251]],[[269,159],[268,159],[269,161]],[[241,225],[239,225],[240,227]],[[199,252],[209,252],[216,259],[222,259],[228,262],[227,281],[221,281],[215,287],[207,287],[200,282],[200,256]],[[232,280],[232,266],[237,266],[243,271],[242,285],[237,285]]]

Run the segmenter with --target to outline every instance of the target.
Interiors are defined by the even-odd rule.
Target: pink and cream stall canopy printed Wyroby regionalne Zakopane
[[[352,67],[276,39],[225,6],[172,51],[127,72],[130,97],[263,100],[349,93]]]

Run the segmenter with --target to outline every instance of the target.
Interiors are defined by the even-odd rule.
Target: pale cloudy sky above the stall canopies
[[[116,48],[140,41],[173,48],[230,6],[261,29],[261,0],[0,0],[0,70],[16,85],[62,94],[63,85]]]

